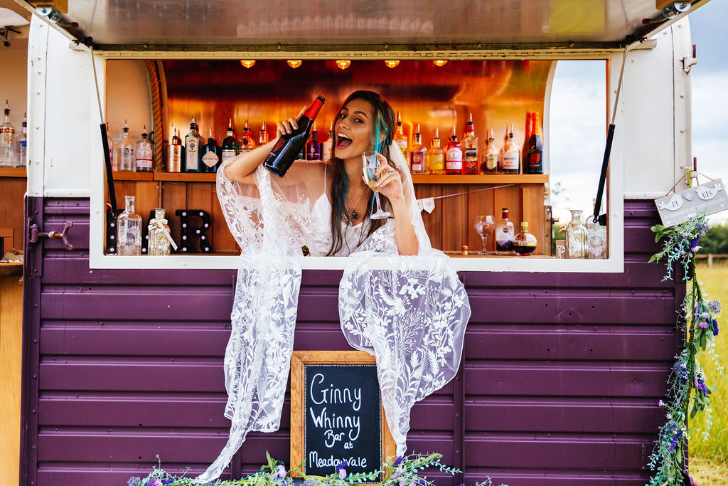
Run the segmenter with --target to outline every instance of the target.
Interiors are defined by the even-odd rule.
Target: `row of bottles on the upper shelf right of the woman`
[[[478,136],[472,114],[465,125],[462,141],[458,139],[456,128],[451,128],[450,138],[441,146],[440,129],[435,128],[428,149],[422,142],[419,123],[415,125],[414,141],[410,145],[405,135],[401,114],[397,112],[395,142],[409,161],[410,171],[415,175],[467,175],[467,174],[542,174],[543,141],[541,138],[539,115],[526,114],[526,137],[523,148],[513,139],[513,125],[506,128],[502,146],[496,144],[493,129],[489,131],[485,149],[479,153]]]

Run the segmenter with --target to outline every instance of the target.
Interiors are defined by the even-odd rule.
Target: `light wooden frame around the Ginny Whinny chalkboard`
[[[293,351],[290,357],[290,466],[298,466],[304,458],[304,403],[306,364],[376,364],[376,359],[364,351]],[[381,401],[381,400],[380,400]],[[397,453],[395,439],[389,432],[384,406],[381,407],[381,458],[387,460]],[[381,469],[381,464],[376,469]],[[373,468],[371,469],[373,470]],[[333,469],[331,471],[334,472]],[[301,477],[301,474],[292,473]]]

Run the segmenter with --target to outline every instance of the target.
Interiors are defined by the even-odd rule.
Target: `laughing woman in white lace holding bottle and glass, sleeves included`
[[[274,142],[218,171],[218,198],[242,248],[225,361],[230,436],[197,477],[217,479],[249,431],[280,425],[308,246],[314,256],[347,256],[339,285],[341,330],[376,357],[387,424],[404,455],[409,414],[454,377],[460,363],[467,294],[449,259],[430,246],[400,149],[395,117],[371,91],[349,95],[336,117],[330,163],[294,163],[283,179],[261,164]],[[278,125],[290,133],[296,119]],[[372,220],[362,153],[375,149],[379,192],[394,216]],[[387,269],[387,270],[381,270]]]

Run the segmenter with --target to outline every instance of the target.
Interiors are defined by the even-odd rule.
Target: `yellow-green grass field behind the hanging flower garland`
[[[711,394],[713,425],[711,435],[703,440],[700,434],[693,434],[690,440],[691,474],[698,486],[728,486],[728,265],[697,267],[698,281],[710,299],[723,304],[721,318],[718,319],[720,333],[716,337],[716,354],[725,368],[724,375],[716,372],[713,361],[705,353],[699,355],[700,364],[705,371],[706,382],[717,386]],[[691,431],[696,427],[705,428],[705,418],[698,415],[689,424]]]

